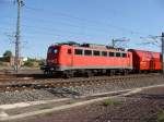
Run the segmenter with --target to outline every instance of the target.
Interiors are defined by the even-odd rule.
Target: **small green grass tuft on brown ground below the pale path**
[[[107,106],[117,106],[117,105],[121,105],[121,103],[122,103],[122,101],[113,100],[113,99],[106,99],[106,100],[104,100],[104,102],[103,102],[103,105],[104,105],[105,107],[107,107]]]

